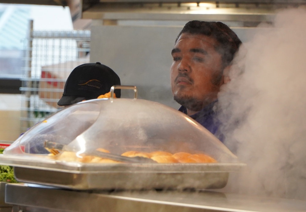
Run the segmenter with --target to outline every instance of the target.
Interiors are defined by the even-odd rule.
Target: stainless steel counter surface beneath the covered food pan
[[[37,185],[8,184],[6,203],[27,211],[125,212],[294,212],[306,202],[225,194],[213,191],[69,191]],[[37,210],[37,209],[43,210]]]

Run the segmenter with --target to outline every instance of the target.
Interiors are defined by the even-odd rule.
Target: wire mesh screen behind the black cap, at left
[[[31,31],[25,43],[22,132],[63,108],[57,102],[69,74],[76,66],[89,62],[90,31]]]

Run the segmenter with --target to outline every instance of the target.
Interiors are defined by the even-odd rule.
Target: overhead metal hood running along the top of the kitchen
[[[82,18],[102,20],[104,25],[118,21],[234,21],[246,26],[273,21],[284,8],[306,7],[306,0],[0,0],[0,3],[68,6],[80,2]]]

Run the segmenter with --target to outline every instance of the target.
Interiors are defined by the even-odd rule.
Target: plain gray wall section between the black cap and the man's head
[[[91,62],[101,62],[135,85],[138,98],[179,108],[170,89],[171,50],[181,27],[93,26]],[[123,92],[122,97],[132,97]]]

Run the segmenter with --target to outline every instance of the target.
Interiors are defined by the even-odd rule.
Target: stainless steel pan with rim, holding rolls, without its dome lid
[[[244,167],[241,163],[81,164],[1,156],[2,163],[14,166],[20,182],[76,190],[222,188],[230,172]]]

